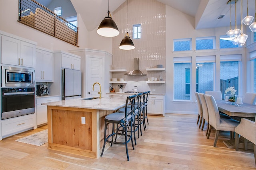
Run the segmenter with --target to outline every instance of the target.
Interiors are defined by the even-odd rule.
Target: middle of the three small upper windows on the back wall
[[[196,50],[215,49],[215,37],[196,38]]]

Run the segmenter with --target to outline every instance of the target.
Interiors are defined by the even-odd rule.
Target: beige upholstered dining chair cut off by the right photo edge
[[[239,125],[235,128],[236,140],[235,148],[238,150],[239,135],[244,137],[244,150],[247,150],[247,142],[253,143],[254,162],[256,166],[256,123],[246,118],[242,118]],[[247,141],[248,140],[248,141]]]

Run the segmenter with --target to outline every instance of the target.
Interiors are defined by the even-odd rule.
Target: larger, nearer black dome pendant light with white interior
[[[109,12],[109,0],[108,0],[108,16],[101,21],[97,33],[104,37],[116,37],[119,35],[118,27]]]

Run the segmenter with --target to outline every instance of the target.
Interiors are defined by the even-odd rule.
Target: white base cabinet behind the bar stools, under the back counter
[[[148,98],[148,114],[164,116],[165,95],[152,95]]]

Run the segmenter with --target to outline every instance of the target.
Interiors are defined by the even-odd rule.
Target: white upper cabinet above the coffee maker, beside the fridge
[[[53,82],[53,53],[36,49],[36,82]]]

